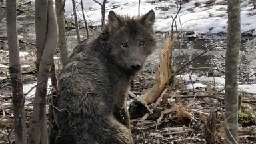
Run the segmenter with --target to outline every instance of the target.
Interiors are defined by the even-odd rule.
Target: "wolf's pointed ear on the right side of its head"
[[[143,15],[139,21],[146,29],[154,31],[155,12],[151,9],[147,14]]]

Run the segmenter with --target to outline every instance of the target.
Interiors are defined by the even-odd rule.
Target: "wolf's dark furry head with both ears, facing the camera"
[[[108,21],[113,57],[123,69],[136,73],[155,46],[155,12],[151,10],[142,17],[129,18],[110,11]]]

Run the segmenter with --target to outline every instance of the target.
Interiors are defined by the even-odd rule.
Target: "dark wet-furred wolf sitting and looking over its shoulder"
[[[101,34],[75,47],[59,77],[49,143],[133,143],[126,101],[155,46],[154,22],[153,10],[131,18],[110,11]]]

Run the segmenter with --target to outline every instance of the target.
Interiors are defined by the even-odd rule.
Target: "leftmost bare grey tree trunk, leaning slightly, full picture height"
[[[16,26],[16,0],[6,1],[7,11],[7,39],[9,47],[9,72],[11,75],[11,86],[13,93],[13,127],[15,143],[27,143],[24,95],[21,82],[21,64],[19,59],[19,41]]]

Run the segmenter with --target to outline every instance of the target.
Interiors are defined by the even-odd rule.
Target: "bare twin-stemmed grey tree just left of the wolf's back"
[[[57,47],[58,27],[53,1],[35,1],[37,88],[29,129],[29,143],[47,143],[46,96],[49,71]],[[40,53],[41,52],[41,53]]]

